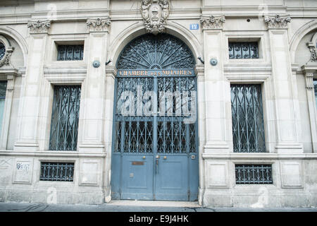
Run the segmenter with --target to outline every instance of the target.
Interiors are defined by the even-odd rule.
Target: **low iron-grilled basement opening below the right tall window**
[[[236,184],[273,184],[272,165],[235,165]]]

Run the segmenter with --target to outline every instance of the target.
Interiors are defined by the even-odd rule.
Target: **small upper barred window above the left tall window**
[[[81,61],[84,56],[83,44],[63,44],[57,47],[58,61]]]

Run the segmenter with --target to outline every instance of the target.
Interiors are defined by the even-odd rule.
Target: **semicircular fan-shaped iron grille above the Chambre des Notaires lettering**
[[[194,69],[189,47],[168,34],[142,35],[120,53],[117,69]]]

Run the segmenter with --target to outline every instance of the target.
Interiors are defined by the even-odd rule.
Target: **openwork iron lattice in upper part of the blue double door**
[[[154,90],[154,79],[157,80],[158,102],[157,109],[163,109],[166,112],[158,112],[156,117],[153,114],[139,114],[137,112],[137,86],[142,87],[141,95],[146,96],[147,92]],[[164,77],[164,78],[125,78],[117,77],[116,81],[116,119],[114,124],[115,131],[115,152],[121,153],[153,153],[154,151],[154,135],[156,134],[157,153],[196,153],[196,123],[187,124],[185,118],[187,113],[183,109],[179,109],[178,97],[168,101],[161,99],[161,93],[175,93],[178,91],[180,97],[182,95],[191,95],[196,90],[196,80],[194,77]],[[125,98],[122,95],[125,91],[132,93],[132,99],[135,100],[135,108],[131,115],[121,114],[122,108],[125,107]],[[139,91],[140,92],[140,91]],[[131,98],[131,97],[130,97]],[[143,104],[148,100],[145,97]],[[195,101],[189,99],[189,110],[196,107]],[[156,120],[156,131],[154,133],[154,120]]]

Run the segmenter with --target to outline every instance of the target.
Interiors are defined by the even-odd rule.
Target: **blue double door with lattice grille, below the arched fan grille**
[[[197,107],[196,87],[193,76],[116,78],[111,161],[113,199],[197,200],[196,116],[188,121],[188,112],[196,114],[196,110],[192,111]],[[159,114],[144,114],[144,106],[150,106],[148,91],[158,93],[159,101],[155,102],[154,108],[157,106],[155,112]],[[182,98],[177,100],[178,95],[173,95],[168,100],[160,96],[168,92],[178,93]],[[185,95],[190,98],[186,99]],[[138,97],[142,97],[144,105],[142,114],[138,114],[137,106],[132,107],[129,114],[123,114],[123,108],[129,110],[131,107],[128,103],[140,104]],[[178,109],[178,102],[185,103],[185,100],[189,102],[186,107],[190,111],[184,105]],[[160,112],[161,109],[166,111]]]

